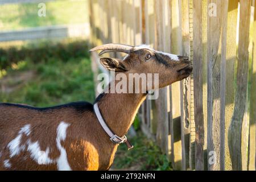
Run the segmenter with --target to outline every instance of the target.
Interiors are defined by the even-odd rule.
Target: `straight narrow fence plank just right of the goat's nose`
[[[202,39],[202,2],[193,2],[193,76],[194,109],[196,126],[195,168],[204,170],[204,115],[203,115],[203,39]]]

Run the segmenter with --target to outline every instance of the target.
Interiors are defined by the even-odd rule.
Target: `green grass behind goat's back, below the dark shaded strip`
[[[72,101],[94,100],[93,74],[88,58],[69,59],[66,63],[50,59],[46,63],[22,62],[18,71],[7,69],[6,77],[34,71],[31,80],[11,93],[0,93],[1,102],[17,102],[34,106],[51,106]],[[9,81],[8,85],[15,84]],[[7,86],[8,86],[7,85]]]

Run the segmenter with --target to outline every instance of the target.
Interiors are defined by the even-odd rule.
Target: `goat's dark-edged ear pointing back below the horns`
[[[101,64],[110,71],[115,72],[125,72],[127,71],[125,65],[122,63],[122,60],[114,59],[110,57],[102,57],[100,59]]]

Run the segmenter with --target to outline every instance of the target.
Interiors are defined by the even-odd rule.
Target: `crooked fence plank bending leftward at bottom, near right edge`
[[[251,1],[240,1],[238,65],[237,65],[237,92],[234,112],[229,127],[228,142],[233,170],[242,169],[242,123],[246,109],[247,98],[247,72],[248,72],[248,47],[250,28]]]

